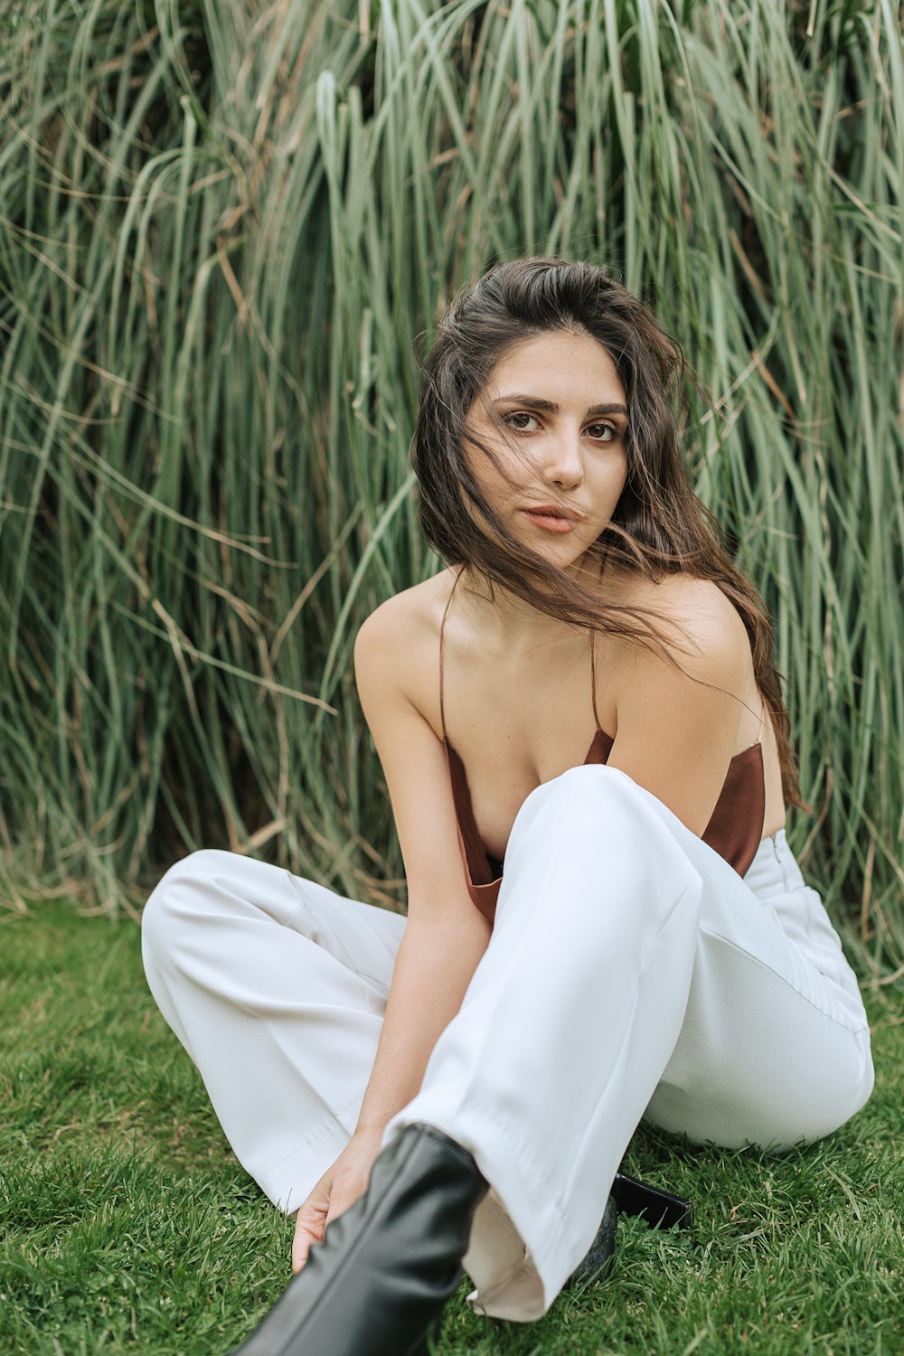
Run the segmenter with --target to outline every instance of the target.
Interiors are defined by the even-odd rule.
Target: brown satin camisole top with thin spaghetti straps
[[[480,837],[474,823],[474,811],[468,788],[468,774],[459,755],[453,749],[446,734],[446,706],[443,693],[445,667],[445,631],[449,603],[461,579],[461,571],[453,584],[449,601],[443,612],[439,626],[439,719],[443,728],[443,747],[449,776],[451,781],[453,801],[455,805],[455,823],[458,829],[458,848],[465,868],[465,883],[468,894],[474,906],[492,923],[496,913],[496,899],[503,881],[503,864],[496,857],[491,857]],[[594,720],[596,734],[587,750],[584,765],[604,763],[613,749],[614,739],[600,730],[596,713],[596,666],[594,655],[594,636],[590,643],[590,671],[591,671],[591,700],[594,706]],[[762,732],[762,724],[760,724]],[[763,747],[759,736],[755,744],[735,754],[728,765],[728,773],[718,793],[716,808],[702,834],[705,843],[709,843],[724,857],[729,866],[733,866],[739,876],[749,868],[756,849],[763,837],[763,823],[766,820],[766,772],[763,767]]]

